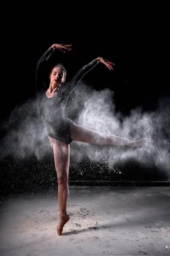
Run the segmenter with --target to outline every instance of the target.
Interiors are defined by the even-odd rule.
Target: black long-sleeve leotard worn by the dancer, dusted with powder
[[[44,67],[53,52],[54,49],[50,47],[37,62],[37,108],[45,122],[48,136],[69,145],[73,141],[70,132],[71,122],[73,121],[64,116],[68,97],[82,77],[95,67],[98,61],[94,59],[85,67],[82,67],[70,83],[62,84],[58,93],[53,98],[49,99],[46,96],[46,91],[49,86],[45,83]]]

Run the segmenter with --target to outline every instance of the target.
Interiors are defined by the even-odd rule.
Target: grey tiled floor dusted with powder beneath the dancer
[[[69,186],[57,236],[57,188],[0,199],[0,256],[170,256],[170,187]]]

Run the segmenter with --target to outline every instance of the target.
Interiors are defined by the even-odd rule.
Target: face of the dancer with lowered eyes
[[[60,86],[64,81],[65,81],[64,70],[61,67],[54,67],[50,75],[51,84]]]

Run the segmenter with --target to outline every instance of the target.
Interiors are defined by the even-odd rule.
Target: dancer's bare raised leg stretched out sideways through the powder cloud
[[[74,122],[71,123],[71,137],[72,140],[79,142],[97,145],[129,145],[131,147],[139,147],[143,145],[145,140],[133,141],[115,135],[100,134],[81,125],[76,125]]]

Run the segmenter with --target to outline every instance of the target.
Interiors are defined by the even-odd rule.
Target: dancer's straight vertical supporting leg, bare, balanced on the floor
[[[53,145],[54,162],[57,171],[58,180],[58,200],[59,200],[59,223],[58,228],[62,225],[63,219],[67,214],[67,198],[68,198],[68,169],[70,162],[70,146],[54,140],[49,137]]]

